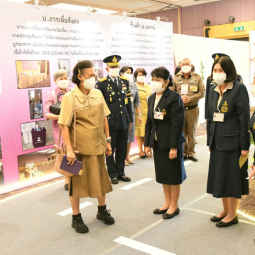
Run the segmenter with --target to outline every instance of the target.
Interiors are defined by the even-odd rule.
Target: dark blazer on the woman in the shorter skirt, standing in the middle
[[[184,104],[181,96],[167,88],[155,110],[164,112],[164,119],[154,119],[154,102],[156,93],[153,93],[148,100],[148,115],[145,125],[145,146],[154,147],[155,133],[157,134],[158,146],[164,149],[180,149],[185,142],[183,135],[184,125]]]

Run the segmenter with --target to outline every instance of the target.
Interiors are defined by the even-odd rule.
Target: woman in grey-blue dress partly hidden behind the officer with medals
[[[133,120],[135,120],[135,109],[138,113],[138,123],[142,123],[142,116],[141,116],[141,109],[140,109],[140,99],[139,99],[139,93],[138,89],[135,83],[131,82],[130,79],[133,74],[133,68],[129,66],[123,66],[120,69],[120,75],[122,77],[127,78],[129,81],[129,90],[131,91],[131,104],[132,104],[132,113],[133,113]],[[128,142],[127,142],[127,156],[126,156],[126,161],[125,165],[129,166],[129,164],[134,164],[133,161],[129,158],[129,152],[130,152],[130,147],[131,143],[134,142],[135,140],[135,123],[132,123],[131,129],[128,132]]]

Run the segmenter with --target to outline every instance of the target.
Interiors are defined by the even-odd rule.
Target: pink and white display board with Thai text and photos
[[[70,78],[75,64],[88,59],[99,79],[106,75],[102,60],[118,54],[121,66],[147,73],[165,66],[173,73],[172,36],[172,23],[1,1],[0,187],[56,176],[43,105],[56,88],[57,69],[66,69]]]

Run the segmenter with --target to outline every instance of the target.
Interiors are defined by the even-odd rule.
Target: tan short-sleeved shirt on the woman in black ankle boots
[[[74,95],[74,97],[73,97]],[[74,100],[76,108],[76,147],[74,146]],[[110,114],[100,90],[83,94],[76,86],[61,101],[58,123],[69,127],[73,149],[82,155],[102,155],[106,148],[104,119]]]

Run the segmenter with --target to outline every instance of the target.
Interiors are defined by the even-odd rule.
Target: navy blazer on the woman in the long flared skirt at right
[[[211,148],[215,139],[218,150],[249,150],[250,105],[246,87],[234,81],[233,89],[223,94],[217,107],[219,93],[214,91],[216,86],[210,87],[208,97],[207,145]],[[220,113],[224,113],[224,122],[213,121],[213,115],[218,108]]]

